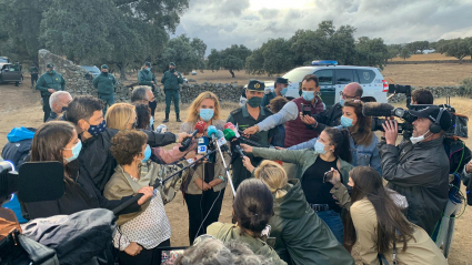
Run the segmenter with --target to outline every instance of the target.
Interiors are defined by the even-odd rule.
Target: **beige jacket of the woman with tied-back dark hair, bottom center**
[[[287,264],[284,261],[280,259],[279,255],[277,255],[277,252],[270,247],[268,243],[250,235],[241,234],[241,228],[237,225],[215,222],[208,226],[207,234],[212,235],[223,243],[229,241],[237,241],[239,243],[248,244],[249,248],[251,248],[254,254],[271,258],[272,261],[270,264]]]

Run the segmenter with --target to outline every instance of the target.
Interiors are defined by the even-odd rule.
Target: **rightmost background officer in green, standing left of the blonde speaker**
[[[170,65],[175,67],[172,62]],[[177,73],[177,77],[175,74]],[[175,115],[179,120],[179,100],[180,100],[180,84],[183,83],[182,74],[180,74],[174,69],[168,70],[164,72],[164,75],[162,77],[161,83],[164,85],[164,93],[165,93],[165,116],[169,116],[170,113],[170,105],[172,104],[173,100],[173,106],[175,108]]]

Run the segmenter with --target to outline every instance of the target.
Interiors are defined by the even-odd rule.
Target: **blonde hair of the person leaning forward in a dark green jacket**
[[[254,176],[265,183],[271,193],[275,193],[275,198],[285,196],[287,191],[282,188],[287,186],[289,177],[280,164],[264,160],[255,169]]]

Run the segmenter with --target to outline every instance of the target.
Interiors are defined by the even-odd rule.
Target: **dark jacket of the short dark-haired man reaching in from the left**
[[[110,152],[111,139],[117,135],[119,131],[107,129],[103,133],[88,139],[82,144],[82,151],[79,154],[79,177],[77,182],[89,194],[89,198],[94,207],[103,207],[113,210],[121,203],[128,201],[130,197],[121,200],[109,201],[103,196],[104,185],[114,173],[117,161]],[[155,133],[152,131],[142,131],[148,134],[148,144],[152,147],[163,146],[175,142],[175,134]],[[132,213],[139,210],[138,203],[127,208],[127,213]],[[124,213],[121,212],[121,213]]]

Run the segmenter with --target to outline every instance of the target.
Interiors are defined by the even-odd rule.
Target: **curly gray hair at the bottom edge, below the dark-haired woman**
[[[189,247],[181,256],[174,262],[175,265],[269,265],[271,261],[264,256],[254,254],[247,244],[229,241],[221,242],[212,236],[207,236],[205,239],[195,243]],[[198,243],[197,243],[198,242]]]

